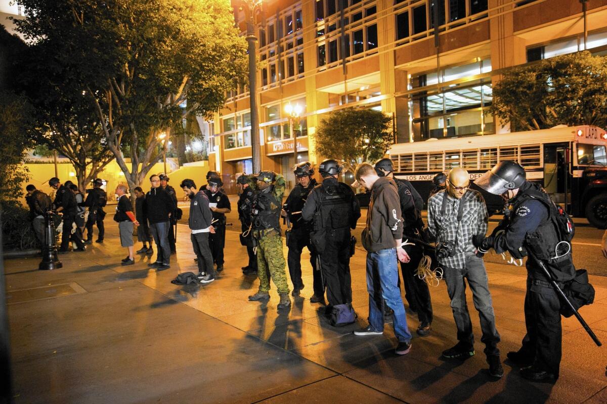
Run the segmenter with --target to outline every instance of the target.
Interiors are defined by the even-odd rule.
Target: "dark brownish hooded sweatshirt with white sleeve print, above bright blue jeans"
[[[393,179],[381,177],[371,188],[367,227],[362,231],[362,246],[370,253],[395,248],[402,238],[401,202]]]

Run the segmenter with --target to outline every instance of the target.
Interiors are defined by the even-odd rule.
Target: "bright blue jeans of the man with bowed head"
[[[375,331],[384,330],[384,300],[394,310],[394,333],[400,342],[410,342],[405,306],[398,287],[396,248],[367,253],[367,291],[369,324]]]

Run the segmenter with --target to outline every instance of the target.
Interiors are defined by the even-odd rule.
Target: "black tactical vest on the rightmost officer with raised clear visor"
[[[527,252],[532,259],[542,260],[559,282],[573,279],[575,276],[575,267],[571,257],[571,244],[567,245],[564,242],[560,243],[563,240],[561,240],[554,220],[554,215],[557,214],[557,208],[550,196],[541,191],[538,185],[532,184],[531,188],[520,191],[517,195],[514,204],[512,204],[510,214],[515,214],[518,208],[531,199],[540,201],[548,208],[549,214],[548,218],[541,222],[534,231],[526,234],[524,247],[527,249]],[[527,265],[527,268],[529,268],[529,265]],[[532,277],[536,277],[534,274],[540,274],[540,277],[544,278],[544,273],[540,268],[530,269],[534,270],[533,273],[530,271]],[[535,271],[535,269],[537,269],[537,271]]]

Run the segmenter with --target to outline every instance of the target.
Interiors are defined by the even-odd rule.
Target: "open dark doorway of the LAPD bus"
[[[544,144],[544,190],[557,204],[571,203],[566,153],[568,143]]]

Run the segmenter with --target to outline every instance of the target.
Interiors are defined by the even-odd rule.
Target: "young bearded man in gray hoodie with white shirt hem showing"
[[[185,179],[181,181],[180,187],[191,199],[188,225],[192,230],[192,247],[198,257],[198,282],[211,283],[215,280],[215,275],[211,248],[209,248],[209,234],[215,233],[215,230],[211,226],[213,217],[209,208],[209,198],[205,191],[198,191],[194,180]]]

